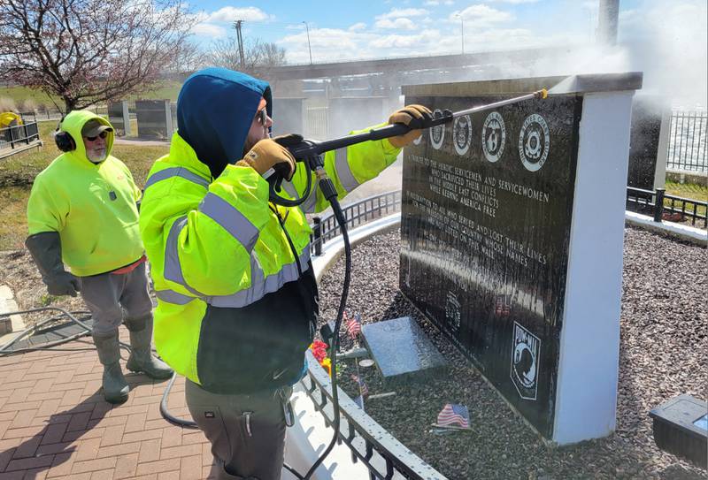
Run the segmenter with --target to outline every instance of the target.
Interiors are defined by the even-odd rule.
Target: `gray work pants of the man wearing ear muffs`
[[[104,336],[118,331],[123,322],[152,314],[150,284],[145,262],[128,273],[101,273],[81,277],[81,297],[94,319],[94,333]]]

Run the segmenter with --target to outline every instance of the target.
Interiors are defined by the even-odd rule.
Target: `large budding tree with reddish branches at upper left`
[[[0,76],[65,111],[147,88],[194,24],[181,0],[0,0]]]

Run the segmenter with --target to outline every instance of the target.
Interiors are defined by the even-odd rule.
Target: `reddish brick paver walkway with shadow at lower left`
[[[127,341],[126,329],[121,335]],[[62,347],[92,346],[85,337]],[[204,434],[167,423],[159,413],[166,381],[131,373],[129,399],[113,406],[100,392],[102,372],[96,351],[0,357],[0,480],[209,476],[212,453]],[[179,377],[168,407],[189,417],[183,392]]]

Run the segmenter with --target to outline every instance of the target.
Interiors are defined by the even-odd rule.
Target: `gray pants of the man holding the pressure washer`
[[[279,480],[285,447],[283,395],[290,387],[250,395],[221,395],[187,380],[192,418],[212,442],[218,480]]]

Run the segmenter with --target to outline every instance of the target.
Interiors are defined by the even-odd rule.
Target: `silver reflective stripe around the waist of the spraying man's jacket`
[[[307,270],[308,262],[310,261],[310,246],[304,249],[303,253],[300,255],[300,264],[303,267],[303,271]],[[295,281],[300,277],[300,272],[297,271],[297,263],[288,263],[283,265],[281,270],[273,275],[265,278],[263,270],[258,264],[256,259],[256,254],[251,252],[250,254],[250,288],[242,290],[241,292],[236,292],[231,295],[219,295],[219,296],[205,296],[198,295],[198,298],[206,303],[212,305],[213,307],[219,307],[222,309],[240,309],[251,303],[259,301],[267,293],[273,293],[278,291],[281,286],[288,282]],[[165,275],[165,278],[166,275]],[[189,288],[189,287],[188,287]],[[194,298],[184,295],[182,293],[174,292],[173,290],[160,290],[156,292],[158,299],[162,301],[167,301],[169,303],[174,303],[177,305],[185,305],[189,301],[194,300]]]

